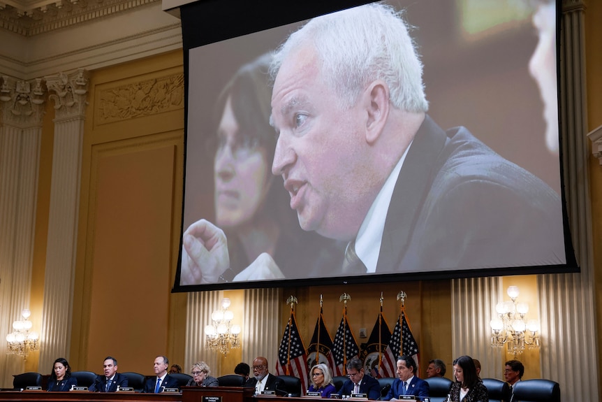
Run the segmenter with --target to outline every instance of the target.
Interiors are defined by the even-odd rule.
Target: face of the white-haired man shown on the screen
[[[274,82],[272,124],[278,134],[272,173],[281,175],[299,224],[351,240],[369,206],[362,102],[347,108],[325,84],[308,46],[291,52]],[[365,123],[363,124],[365,129]]]

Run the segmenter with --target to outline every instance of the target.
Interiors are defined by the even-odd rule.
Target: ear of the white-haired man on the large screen
[[[385,127],[389,115],[389,87],[382,80],[372,82],[364,92],[367,109],[366,141],[374,143]]]

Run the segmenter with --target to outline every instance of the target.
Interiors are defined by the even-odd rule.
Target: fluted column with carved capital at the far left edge
[[[6,354],[3,338],[29,308],[45,89],[41,79],[0,81],[0,381],[12,387],[24,361]]]

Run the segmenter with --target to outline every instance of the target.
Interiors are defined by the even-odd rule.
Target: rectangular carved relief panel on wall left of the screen
[[[184,74],[153,78],[103,89],[99,95],[98,124],[181,109]]]

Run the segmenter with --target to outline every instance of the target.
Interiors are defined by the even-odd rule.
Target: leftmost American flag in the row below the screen
[[[305,347],[299,335],[295,315],[291,311],[291,318],[288,319],[278,349],[276,375],[293,375],[299,378],[301,380],[301,390],[305,392],[308,387],[308,373]]]

